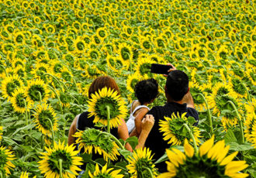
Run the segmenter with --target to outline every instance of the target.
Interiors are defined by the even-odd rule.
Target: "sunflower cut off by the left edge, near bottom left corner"
[[[5,176],[11,174],[9,169],[13,169],[15,166],[12,164],[12,160],[15,159],[12,151],[5,149],[4,146],[0,147],[0,167],[3,168]]]

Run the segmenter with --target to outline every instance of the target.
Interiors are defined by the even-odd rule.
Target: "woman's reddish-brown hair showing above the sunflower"
[[[99,90],[101,90],[103,87],[110,87],[111,89],[114,89],[115,91],[120,94],[119,87],[116,84],[116,81],[112,79],[112,77],[109,76],[101,76],[97,77],[95,80],[93,80],[91,86],[89,87],[88,96],[89,98],[92,98],[92,94],[95,94]]]

